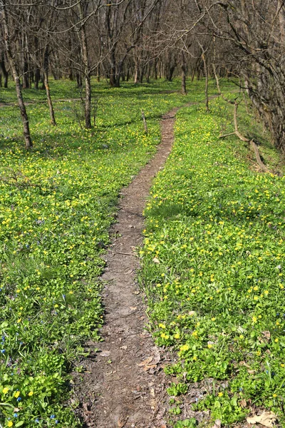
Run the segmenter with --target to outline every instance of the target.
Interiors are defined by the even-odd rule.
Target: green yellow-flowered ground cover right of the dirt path
[[[140,280],[157,344],[177,352],[165,369],[179,379],[170,396],[212,379],[193,409],[229,427],[251,407],[268,409],[285,427],[285,178],[254,172],[242,141],[219,139],[231,115],[221,99],[209,114],[177,113],[175,146],[145,209]],[[241,128],[265,140],[241,115]],[[270,145],[261,153],[279,163]]]

